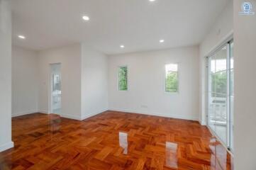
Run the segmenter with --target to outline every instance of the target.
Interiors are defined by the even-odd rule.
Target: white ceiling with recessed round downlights
[[[13,0],[13,44],[45,50],[85,42],[108,55],[198,45],[227,1]]]

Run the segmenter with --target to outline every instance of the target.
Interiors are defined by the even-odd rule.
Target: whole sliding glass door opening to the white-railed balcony
[[[208,57],[208,127],[230,148],[233,145],[233,42]]]

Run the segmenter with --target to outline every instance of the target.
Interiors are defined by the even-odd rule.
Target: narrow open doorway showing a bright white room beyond
[[[50,64],[50,113],[61,113],[61,64]]]

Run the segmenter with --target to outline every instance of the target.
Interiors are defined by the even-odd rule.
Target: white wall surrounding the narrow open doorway
[[[40,112],[49,113],[50,64],[61,63],[62,117],[81,119],[81,45],[68,45],[39,54],[39,101]]]

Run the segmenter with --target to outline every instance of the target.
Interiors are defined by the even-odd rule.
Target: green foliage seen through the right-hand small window
[[[178,92],[178,72],[168,72],[165,79],[166,92]]]

